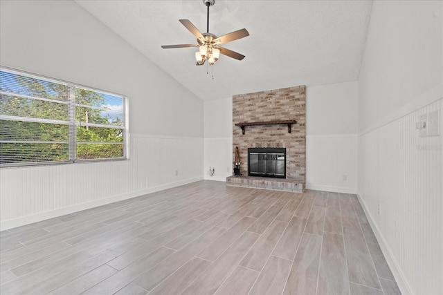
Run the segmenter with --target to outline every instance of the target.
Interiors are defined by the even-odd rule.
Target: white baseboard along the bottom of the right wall
[[[390,270],[391,270],[392,274],[394,275],[395,281],[397,282],[397,285],[399,286],[401,294],[404,294],[404,295],[414,294],[412,288],[408,284],[408,280],[406,280],[406,277],[404,276],[403,272],[401,272],[401,268],[399,267],[397,260],[392,255],[392,251],[390,250],[388,243],[386,242],[385,238],[383,237],[383,234],[381,234],[381,231],[380,231],[379,227],[377,226],[377,223],[374,221],[374,218],[372,217],[372,214],[368,210],[368,207],[366,207],[366,204],[363,201],[363,198],[361,198],[359,192],[357,192],[356,195],[359,198],[359,201],[362,205],[361,207],[363,207],[363,210],[365,211],[366,217],[368,218],[368,221],[370,223],[372,231],[374,231],[374,235],[377,237],[377,241],[379,242],[381,251],[383,252],[383,255],[386,258],[386,262],[388,263]]]

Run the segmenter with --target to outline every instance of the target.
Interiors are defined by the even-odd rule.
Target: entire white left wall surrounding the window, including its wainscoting
[[[1,65],[127,95],[132,135],[129,161],[1,169],[1,229],[203,178],[198,97],[73,1],[0,13]]]

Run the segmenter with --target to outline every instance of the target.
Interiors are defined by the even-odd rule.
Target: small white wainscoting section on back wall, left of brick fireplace
[[[204,139],[204,179],[226,181],[226,177],[233,175],[233,137],[205,138]],[[242,162],[248,159],[242,159]],[[214,175],[208,173],[214,169]]]

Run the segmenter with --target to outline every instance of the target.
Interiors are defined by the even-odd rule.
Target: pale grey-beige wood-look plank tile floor
[[[354,195],[201,181],[0,233],[0,294],[400,294]]]

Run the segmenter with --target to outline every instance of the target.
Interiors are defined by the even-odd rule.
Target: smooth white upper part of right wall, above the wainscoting
[[[374,1],[359,75],[359,131],[442,92],[442,1]],[[400,3],[401,2],[401,3]]]

